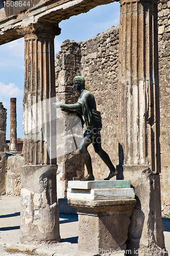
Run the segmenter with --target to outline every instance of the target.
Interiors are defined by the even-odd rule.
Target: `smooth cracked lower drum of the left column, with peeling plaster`
[[[22,166],[20,241],[60,242],[57,165]]]

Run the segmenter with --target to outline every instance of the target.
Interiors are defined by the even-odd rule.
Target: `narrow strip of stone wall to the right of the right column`
[[[170,1],[158,5],[160,86],[161,203],[170,218]]]

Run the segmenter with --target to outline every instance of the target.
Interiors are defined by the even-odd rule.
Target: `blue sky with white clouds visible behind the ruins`
[[[61,34],[55,37],[55,53],[66,39],[82,41],[119,24],[119,3],[98,6],[87,13],[63,20]],[[10,139],[10,98],[17,98],[17,137],[23,138],[22,99],[24,83],[24,40],[0,46],[0,102],[7,109],[7,135]]]

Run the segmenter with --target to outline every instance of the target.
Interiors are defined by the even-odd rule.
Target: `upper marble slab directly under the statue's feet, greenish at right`
[[[131,187],[130,180],[94,180],[94,181],[68,181],[68,188],[125,188]]]

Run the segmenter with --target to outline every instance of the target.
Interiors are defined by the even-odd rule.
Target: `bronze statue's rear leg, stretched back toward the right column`
[[[100,132],[97,133],[97,135],[96,135],[95,139],[93,140],[92,144],[93,144],[95,153],[97,153],[102,158],[104,163],[110,169],[110,174],[105,180],[111,179],[113,176],[117,175],[118,172],[117,172],[116,168],[114,167],[114,165],[112,164],[112,162],[110,160],[110,157],[108,156],[108,154],[102,148]]]

